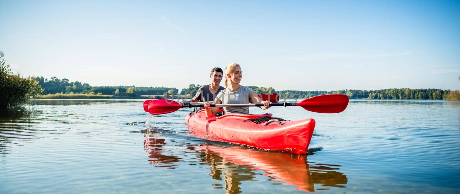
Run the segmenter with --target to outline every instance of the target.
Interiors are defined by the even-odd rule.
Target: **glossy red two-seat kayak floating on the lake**
[[[185,117],[185,123],[197,136],[206,139],[245,145],[269,151],[305,154],[310,144],[315,120],[276,121],[268,125],[256,124],[247,119],[271,117],[265,115],[225,114],[220,117],[206,117],[205,110],[192,112]],[[280,124],[281,123],[281,124]]]

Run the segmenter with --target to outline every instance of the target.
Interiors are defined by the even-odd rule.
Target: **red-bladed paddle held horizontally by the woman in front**
[[[148,101],[148,102],[147,102]],[[145,103],[148,103],[147,109]],[[212,104],[211,107],[229,107],[229,106],[264,106],[262,103],[258,104]],[[311,112],[320,113],[338,113],[345,110],[348,106],[348,96],[344,94],[328,94],[319,95],[307,98],[297,103],[272,103],[270,106],[302,106],[305,110]],[[157,100],[145,100],[144,110],[153,115],[166,114],[175,112],[179,108],[192,108],[192,107],[204,107],[204,105],[180,105],[173,100],[157,99]],[[148,110],[148,111],[147,111]]]

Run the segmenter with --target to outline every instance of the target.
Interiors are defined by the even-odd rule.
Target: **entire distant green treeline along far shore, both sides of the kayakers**
[[[88,83],[69,82],[68,79],[51,77],[35,77],[38,85],[43,88],[43,94],[98,94],[115,96],[136,96],[136,95],[167,95],[178,94],[177,88],[165,87],[134,87],[134,86],[90,86]],[[196,94],[201,85],[190,84],[189,88],[183,88],[180,94]],[[392,88],[380,90],[357,90],[345,89],[334,91],[300,91],[300,90],[276,90],[272,87],[248,86],[258,94],[277,93],[280,98],[310,98],[324,94],[346,94],[350,99],[393,99],[393,100],[460,100],[459,91],[442,89],[410,89]]]

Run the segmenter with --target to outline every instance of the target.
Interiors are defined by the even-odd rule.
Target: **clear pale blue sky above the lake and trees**
[[[0,1],[13,71],[187,88],[460,89],[459,1]],[[221,84],[223,85],[223,83]]]

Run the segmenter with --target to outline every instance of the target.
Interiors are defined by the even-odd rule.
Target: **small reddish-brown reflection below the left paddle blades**
[[[173,163],[182,160],[177,156],[166,155],[167,151],[161,148],[165,145],[165,140],[156,137],[155,133],[145,133],[144,137],[144,152],[149,153],[150,164],[154,164],[155,167],[174,169],[174,166],[177,165],[173,165]]]

